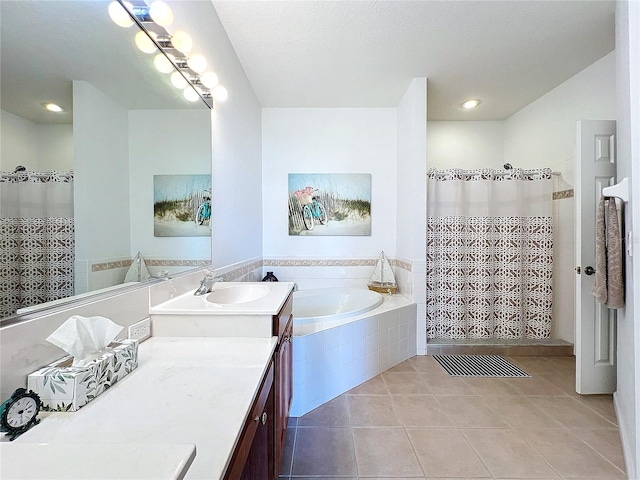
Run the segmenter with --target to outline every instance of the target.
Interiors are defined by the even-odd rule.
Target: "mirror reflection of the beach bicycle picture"
[[[153,235],[211,236],[211,175],[153,176]]]

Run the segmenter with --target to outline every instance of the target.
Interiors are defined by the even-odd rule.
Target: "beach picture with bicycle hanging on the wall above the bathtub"
[[[371,174],[290,173],[289,235],[371,235]]]

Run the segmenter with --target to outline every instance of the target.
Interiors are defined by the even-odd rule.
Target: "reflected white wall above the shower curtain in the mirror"
[[[18,165],[35,171],[73,168],[70,124],[37,124],[5,110],[0,114],[0,170],[12,172]]]

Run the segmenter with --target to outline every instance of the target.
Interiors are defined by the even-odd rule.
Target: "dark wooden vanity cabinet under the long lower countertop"
[[[224,474],[225,480],[274,478],[274,372],[271,362]]]

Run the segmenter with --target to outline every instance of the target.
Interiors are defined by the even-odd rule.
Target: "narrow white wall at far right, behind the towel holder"
[[[618,310],[618,389],[614,394],[627,476],[638,478],[640,465],[640,3],[616,4],[618,177],[631,181],[624,225],[633,232],[633,256],[626,255],[626,307]],[[635,231],[634,231],[635,230]]]

